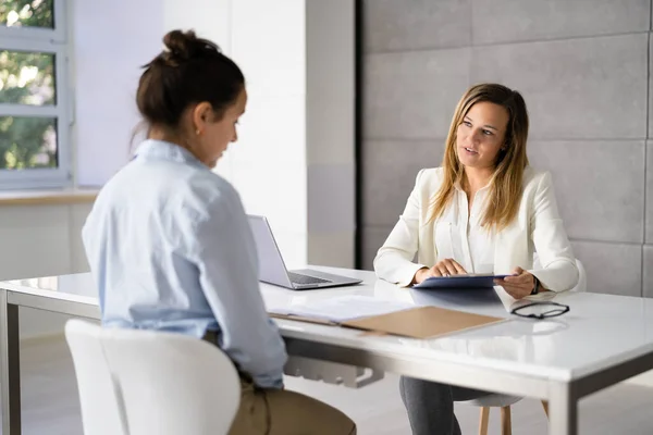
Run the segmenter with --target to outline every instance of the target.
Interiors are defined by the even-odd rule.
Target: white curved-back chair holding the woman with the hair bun
[[[65,325],[85,435],[226,434],[241,383],[215,346],[181,334]]]

